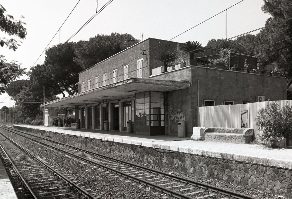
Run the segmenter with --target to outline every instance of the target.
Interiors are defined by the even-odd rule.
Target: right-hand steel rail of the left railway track
[[[26,149],[24,149],[22,146],[20,146],[19,144],[17,144],[16,142],[14,142],[12,139],[10,139],[9,137],[7,137],[6,135],[4,135],[2,132],[0,132],[0,134],[2,136],[4,136],[6,139],[8,139],[10,142],[12,142],[14,145],[16,145],[18,148],[20,148],[22,151],[24,151],[25,153],[29,154],[29,156],[33,157],[34,159],[36,159],[39,163],[43,164],[45,167],[47,167],[48,169],[50,169],[51,171],[53,171],[55,174],[57,174],[60,178],[62,178],[63,180],[65,180],[68,184],[70,184],[71,186],[73,186],[74,188],[76,188],[78,191],[80,191],[82,194],[84,194],[85,196],[87,196],[88,198],[92,198],[92,199],[97,199],[96,197],[94,197],[93,195],[91,195],[88,191],[85,191],[83,188],[81,188],[80,186],[78,186],[77,184],[75,184],[72,180],[68,179],[67,177],[65,177],[64,175],[62,175],[60,172],[58,172],[57,170],[53,169],[52,167],[50,167],[49,165],[47,165],[46,163],[44,163],[42,160],[40,160],[39,158],[37,158],[36,156],[34,156],[32,153],[30,153],[29,151],[27,151]]]

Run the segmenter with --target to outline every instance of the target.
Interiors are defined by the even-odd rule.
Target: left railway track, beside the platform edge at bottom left
[[[1,133],[2,134],[2,133]],[[50,167],[27,149],[2,134],[9,142],[0,144],[0,151],[31,193],[32,198],[93,198],[60,172]],[[5,148],[5,149],[4,149]]]

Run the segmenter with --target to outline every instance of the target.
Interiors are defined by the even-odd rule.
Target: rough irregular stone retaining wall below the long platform
[[[128,159],[135,158],[162,167],[235,183],[238,186],[248,186],[273,194],[292,196],[291,169],[83,138],[18,126],[14,126],[14,128],[52,137],[67,144],[116,153]]]

